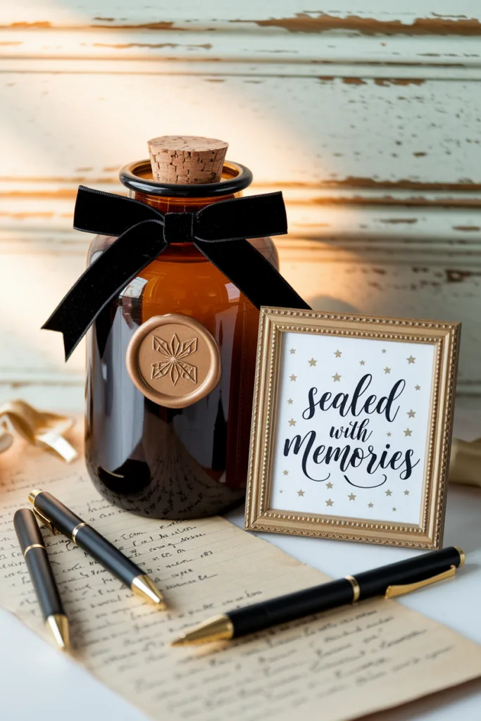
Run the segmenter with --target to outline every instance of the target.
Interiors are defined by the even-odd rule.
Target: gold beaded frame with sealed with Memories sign
[[[459,332],[262,308],[244,527],[441,547]]]

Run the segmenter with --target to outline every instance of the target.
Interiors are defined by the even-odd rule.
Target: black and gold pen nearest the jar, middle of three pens
[[[167,608],[162,594],[149,576],[56,497],[47,491],[33,490],[28,498],[40,523],[48,526],[53,533],[68,536],[137,596],[155,603],[159,609]]]

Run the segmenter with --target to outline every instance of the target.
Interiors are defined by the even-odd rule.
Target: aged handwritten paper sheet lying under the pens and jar
[[[221,518],[156,521],[114,508],[81,460],[66,466],[17,442],[0,460],[0,603],[49,641],[12,526],[32,487],[71,506],[164,592],[162,612],[43,529],[74,658],[153,719],[309,721],[322,709],[323,721],[343,721],[481,676],[481,647],[384,599],[239,642],[169,647],[208,616],[327,577]]]

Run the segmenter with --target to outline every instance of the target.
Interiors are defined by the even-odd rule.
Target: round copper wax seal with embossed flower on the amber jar
[[[221,379],[221,354],[211,333],[180,314],[154,316],[127,346],[127,370],[144,396],[167,408],[206,397]]]

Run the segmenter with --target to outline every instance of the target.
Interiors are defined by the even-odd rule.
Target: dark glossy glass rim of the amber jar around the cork
[[[149,177],[150,176],[150,177]],[[152,180],[150,160],[137,160],[120,169],[120,182],[129,190],[149,195],[168,195],[169,198],[210,198],[216,195],[232,195],[252,183],[252,172],[245,165],[230,160],[224,162],[222,180],[201,185],[175,185],[175,183]]]

